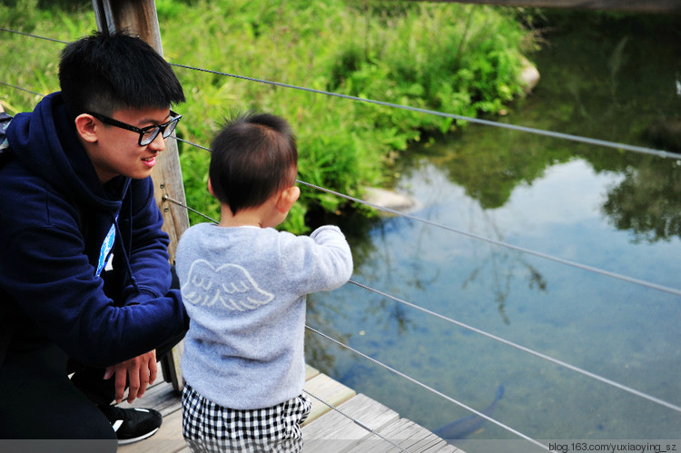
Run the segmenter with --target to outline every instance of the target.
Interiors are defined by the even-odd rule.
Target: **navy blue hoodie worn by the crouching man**
[[[15,157],[0,168],[0,325],[12,334],[0,335],[0,350],[54,342],[104,367],[186,330],[151,178],[103,185],[59,93],[18,113],[7,139]],[[114,270],[103,271],[111,253]]]

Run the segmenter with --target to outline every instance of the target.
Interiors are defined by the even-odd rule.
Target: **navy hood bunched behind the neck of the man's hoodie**
[[[128,178],[103,185],[60,93],[45,96],[31,113],[17,113],[7,128],[15,158],[64,196],[88,209],[118,212]]]

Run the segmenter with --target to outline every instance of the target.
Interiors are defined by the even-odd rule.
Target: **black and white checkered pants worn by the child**
[[[301,423],[311,402],[303,395],[272,408],[229,409],[205,399],[189,384],[183,389],[183,437],[199,452],[299,452]]]

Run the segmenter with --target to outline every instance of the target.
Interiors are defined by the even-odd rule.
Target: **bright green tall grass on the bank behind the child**
[[[0,23],[7,28],[64,41],[95,28],[89,2],[13,4],[0,4]],[[156,0],[156,7],[163,53],[171,63],[469,116],[498,113],[521,93],[521,57],[532,45],[512,12],[484,6]],[[6,33],[2,38],[0,81],[41,94],[58,89],[61,44]],[[178,108],[183,139],[208,146],[223,118],[236,110],[279,114],[298,135],[299,179],[352,196],[390,183],[390,163],[422,133],[458,127],[434,115],[180,67],[175,72],[187,94]],[[9,111],[30,109],[39,99],[3,93]],[[183,143],[180,153],[187,201],[216,217],[217,206],[205,190],[209,153]],[[303,188],[284,227],[304,231],[310,209],[339,212],[347,204]]]

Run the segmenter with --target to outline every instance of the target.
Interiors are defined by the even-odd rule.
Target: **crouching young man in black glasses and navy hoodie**
[[[161,417],[110,404],[141,397],[189,325],[150,178],[184,94],[128,34],[68,44],[59,82],[9,124],[0,167],[0,438],[115,450]]]

